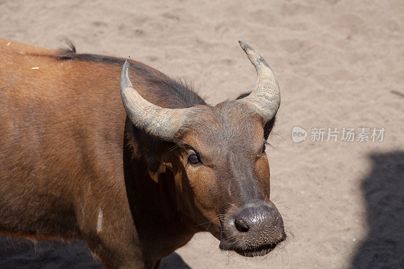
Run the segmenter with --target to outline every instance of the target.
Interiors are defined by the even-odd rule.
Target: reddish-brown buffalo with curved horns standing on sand
[[[244,256],[274,249],[280,92],[240,45],[257,85],[211,106],[142,63],[0,40],[0,233],[84,239],[109,268],[158,267],[201,231]]]

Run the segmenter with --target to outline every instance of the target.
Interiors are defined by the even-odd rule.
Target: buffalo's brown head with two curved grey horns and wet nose
[[[280,104],[278,82],[265,60],[240,41],[258,74],[255,89],[215,106],[167,109],[133,88],[129,62],[121,96],[133,125],[167,141],[160,162],[173,172],[181,213],[195,230],[209,231],[220,248],[265,255],[285,238],[282,217],[270,201],[266,139]]]

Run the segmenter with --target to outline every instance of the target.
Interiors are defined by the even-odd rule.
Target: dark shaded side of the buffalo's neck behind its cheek
[[[123,149],[126,194],[141,244],[156,254],[159,249],[170,249],[159,255],[164,257],[186,244],[196,230],[179,211],[173,172],[140,149],[140,144],[149,142],[142,138],[146,136],[135,135],[127,119]]]

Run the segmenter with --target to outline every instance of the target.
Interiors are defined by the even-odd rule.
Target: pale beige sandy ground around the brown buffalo
[[[128,57],[192,80],[210,103],[255,85],[237,41],[282,92],[267,149],[271,196],[294,238],[265,258],[197,234],[162,268],[404,267],[404,2],[1,1],[0,37]],[[1,71],[0,71],[1,72]],[[292,141],[299,126],[305,141]],[[312,142],[313,128],[385,128],[383,141]],[[1,216],[0,216],[1,218]],[[98,268],[84,242],[0,239],[1,268]]]

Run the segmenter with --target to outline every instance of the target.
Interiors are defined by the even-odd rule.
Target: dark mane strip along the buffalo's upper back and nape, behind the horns
[[[120,68],[125,61],[110,56],[77,53],[76,47],[70,40],[67,40],[67,45],[67,48],[59,49],[59,53],[55,56],[56,58],[60,60],[104,63]],[[161,73],[153,72],[153,69],[133,62],[130,63],[130,67],[131,70],[142,75],[151,87],[158,89],[154,94],[158,95],[162,100],[167,100],[169,103],[165,106],[168,108],[182,108],[205,104],[204,99],[194,91],[193,86],[181,78],[172,79],[168,76],[161,75]]]

